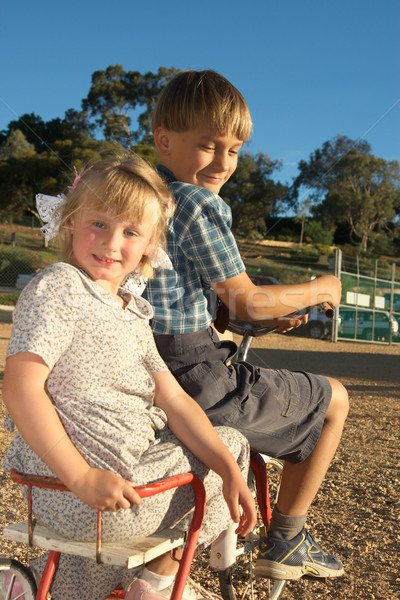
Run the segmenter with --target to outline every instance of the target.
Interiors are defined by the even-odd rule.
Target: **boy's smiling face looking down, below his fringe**
[[[178,181],[216,194],[235,171],[243,145],[243,141],[231,133],[218,135],[205,127],[180,132],[159,127],[154,139],[161,164],[172,171]]]

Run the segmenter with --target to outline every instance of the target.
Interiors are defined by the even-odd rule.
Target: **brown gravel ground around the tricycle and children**
[[[0,323],[1,370],[9,332],[10,326]],[[249,360],[337,377],[350,395],[341,445],[308,520],[316,539],[342,559],[346,573],[336,580],[291,582],[286,600],[400,600],[399,356],[399,346],[332,344],[276,334],[253,343]],[[0,418],[3,414],[0,405]],[[1,456],[10,439],[0,430]],[[24,516],[25,506],[1,470],[0,494],[0,554],[27,563],[35,550],[2,537],[3,526]],[[197,559],[193,575],[217,591],[205,558]],[[268,598],[264,581],[257,582],[256,597]]]

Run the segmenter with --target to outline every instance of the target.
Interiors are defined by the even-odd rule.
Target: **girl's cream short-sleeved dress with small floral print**
[[[230,523],[220,477],[210,471],[167,427],[153,405],[152,373],[167,370],[149,326],[150,304],[121,286],[116,301],[84,272],[56,263],[23,290],[13,314],[7,356],[33,352],[50,369],[46,391],[63,426],[92,467],[110,469],[142,485],[191,471],[206,486],[207,509],[199,543],[210,544]],[[6,426],[12,427],[10,418]],[[217,433],[246,476],[245,438],[227,427]],[[17,432],[4,468],[53,475]],[[103,515],[103,539],[149,535],[164,527],[187,527],[193,506],[191,486],[145,499],[140,506]],[[74,494],[34,488],[38,522],[71,539],[93,540],[96,511]],[[189,514],[188,514],[189,513]],[[44,561],[33,567],[40,571]],[[132,574],[62,556],[51,593],[55,600],[99,600]]]

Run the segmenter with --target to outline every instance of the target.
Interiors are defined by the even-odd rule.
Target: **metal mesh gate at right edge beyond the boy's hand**
[[[400,281],[395,263],[335,254],[342,282],[333,340],[400,343]]]

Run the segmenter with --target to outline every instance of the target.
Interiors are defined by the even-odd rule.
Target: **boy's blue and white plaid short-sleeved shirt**
[[[214,314],[211,283],[245,271],[231,232],[232,215],[214,192],[176,181],[159,166],[174,194],[176,210],[167,232],[167,252],[174,268],[156,270],[143,296],[154,308],[155,334],[193,333],[207,329]]]

